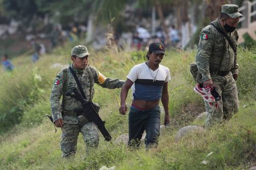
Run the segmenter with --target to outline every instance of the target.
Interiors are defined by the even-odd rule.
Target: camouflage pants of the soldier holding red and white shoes
[[[233,77],[212,76],[211,78],[217,92],[221,95],[221,100],[218,101],[218,108],[204,102],[207,111],[206,127],[210,127],[214,122],[220,123],[222,120],[229,120],[233,113],[238,112],[239,108],[237,85]]]

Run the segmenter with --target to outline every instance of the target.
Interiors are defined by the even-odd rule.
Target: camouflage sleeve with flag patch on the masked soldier
[[[202,74],[202,81],[210,80],[209,58],[212,46],[214,45],[214,35],[210,32],[210,26],[204,28],[200,33],[198,51],[196,56],[199,72]]]

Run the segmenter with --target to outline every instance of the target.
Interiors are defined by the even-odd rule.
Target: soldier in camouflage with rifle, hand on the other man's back
[[[86,46],[75,46],[71,51],[71,60],[73,61],[71,67],[80,81],[87,100],[92,101],[94,83],[104,88],[114,89],[121,88],[124,81],[104,77],[96,68],[88,64],[89,55]],[[79,114],[81,103],[70,96],[63,95],[65,91],[73,87],[78,89],[71,71],[64,68],[56,76],[50,96],[53,122],[56,127],[60,127],[62,130],[62,140],[60,142],[62,157],[75,155],[79,132],[82,133],[84,142],[87,144],[87,152],[90,148],[96,148],[99,142],[97,125]],[[64,98],[60,105],[61,95]],[[94,105],[96,110],[99,110],[99,105],[96,103]]]

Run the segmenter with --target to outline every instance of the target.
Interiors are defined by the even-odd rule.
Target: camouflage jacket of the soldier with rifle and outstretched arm
[[[92,101],[94,95],[94,83],[97,83],[101,87],[104,88],[121,88],[124,84],[124,81],[119,81],[118,79],[111,79],[104,77],[96,68],[93,66],[88,65],[84,69],[76,69],[71,65],[71,67],[76,72],[76,75],[81,83],[82,89],[84,94],[86,95],[87,100]],[[51,96],[50,96],[50,103],[51,103],[51,110],[52,110],[52,117],[53,122],[56,119],[62,118],[61,115],[61,105],[59,100],[63,93],[63,76],[62,76],[63,69],[59,72],[56,76],[54,85],[52,87]],[[67,69],[67,82],[66,82],[66,91],[69,89],[77,87],[76,81],[69,69]],[[65,101],[63,103],[63,109],[65,110],[73,110],[74,108],[81,108],[81,103],[70,96],[65,96]],[[65,116],[63,117],[64,122],[66,123],[74,123],[78,122],[78,118],[76,116]]]

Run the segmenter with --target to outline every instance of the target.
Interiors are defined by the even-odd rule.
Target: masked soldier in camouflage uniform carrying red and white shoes
[[[205,102],[207,116],[205,125],[209,127],[213,122],[221,122],[223,119],[231,118],[239,107],[236,80],[238,78],[237,63],[237,26],[239,18],[243,16],[238,12],[238,6],[229,4],[223,5],[221,16],[211,25],[206,26],[200,33],[200,41],[196,56],[197,66],[202,74],[203,86],[216,88],[221,95],[218,102],[219,107],[215,108]],[[218,30],[222,30],[231,40],[233,48]]]

